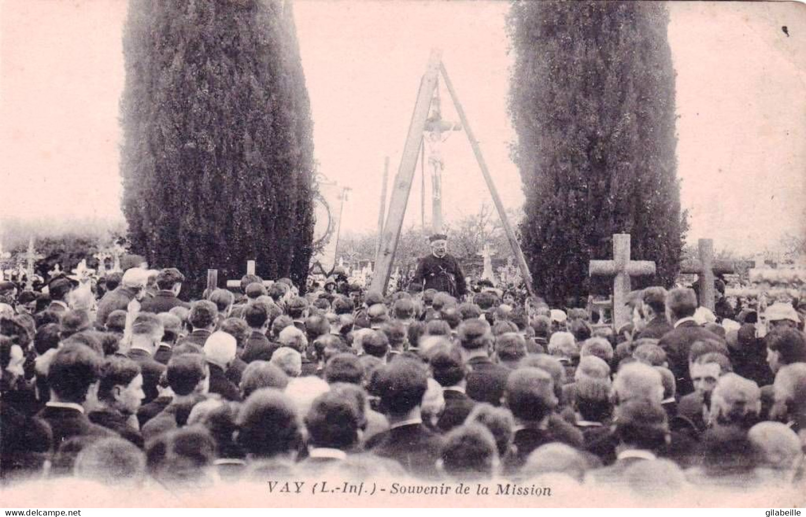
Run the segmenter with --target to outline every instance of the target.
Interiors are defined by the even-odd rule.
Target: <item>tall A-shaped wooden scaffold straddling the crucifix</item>
[[[409,204],[409,192],[411,192],[414,172],[417,168],[423,132],[426,130],[426,120],[430,111],[431,102],[434,98],[434,89],[437,88],[440,76],[442,76],[442,81],[444,81],[445,87],[451,95],[451,101],[453,101],[456,113],[459,114],[459,122],[465,134],[467,134],[467,140],[470,142],[473,154],[476,155],[476,161],[479,163],[481,174],[484,176],[484,182],[487,184],[487,188],[492,196],[492,202],[496,205],[498,216],[501,217],[501,225],[504,227],[509,246],[512,247],[517,266],[521,270],[521,277],[524,283],[526,283],[526,288],[530,296],[535,296],[529,266],[526,264],[526,259],[523,256],[520,244],[517,242],[512,225],[509,224],[509,218],[505,213],[504,205],[501,203],[501,197],[498,196],[495,184],[492,183],[492,176],[490,176],[487,163],[484,161],[484,156],[481,154],[479,142],[473,134],[470,122],[467,122],[467,115],[464,113],[463,107],[459,102],[459,97],[456,96],[456,91],[453,87],[453,83],[451,83],[450,77],[448,77],[445,65],[442,64],[442,52],[438,49],[431,50],[426,73],[422,77],[422,81],[420,81],[420,89],[418,91],[417,101],[414,104],[414,113],[412,114],[409,124],[409,133],[406,136],[405,146],[403,147],[400,167],[397,169],[397,176],[395,176],[392,186],[392,196],[389,200],[386,222],[383,227],[383,232],[380,234],[375,275],[372,277],[370,289],[372,291],[385,293],[389,282],[389,275],[392,274],[395,252],[397,251],[397,242],[400,239],[401,228],[403,227],[406,205]]]

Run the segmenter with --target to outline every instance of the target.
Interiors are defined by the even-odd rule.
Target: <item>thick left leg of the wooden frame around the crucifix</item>
[[[389,201],[389,213],[384,225],[384,233],[381,235],[375,275],[372,275],[372,284],[369,287],[372,291],[385,293],[389,275],[392,274],[397,241],[400,239],[405,208],[409,204],[409,193],[411,192],[414,170],[417,168],[422,132],[426,128],[426,118],[428,118],[431,98],[434,96],[434,89],[437,87],[439,79],[441,57],[442,52],[436,49],[431,50],[426,74],[420,81],[417,102],[414,105],[414,112],[409,123],[409,133],[406,136],[405,146],[403,147],[401,164],[397,169],[397,177],[392,187],[392,199]]]

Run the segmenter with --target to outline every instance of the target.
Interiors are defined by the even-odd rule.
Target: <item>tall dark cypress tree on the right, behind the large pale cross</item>
[[[588,262],[612,258],[615,233],[631,234],[634,259],[657,264],[644,283],[674,282],[687,225],[667,24],[660,2],[516,2],[510,11],[522,245],[554,303],[609,292],[588,279]]]

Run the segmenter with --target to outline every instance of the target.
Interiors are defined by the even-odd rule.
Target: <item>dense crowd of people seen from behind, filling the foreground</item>
[[[0,283],[2,483],[804,482],[806,340],[791,304],[703,324],[691,289],[648,287],[613,332],[484,286],[300,296],[246,275],[237,293],[188,303],[183,281],[132,267],[102,296],[64,276],[47,294]]]

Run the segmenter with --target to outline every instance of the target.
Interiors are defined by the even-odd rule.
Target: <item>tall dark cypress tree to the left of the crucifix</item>
[[[131,0],[123,37],[123,213],[134,250],[198,292],[208,267],[304,283],[313,139],[280,0]]]

